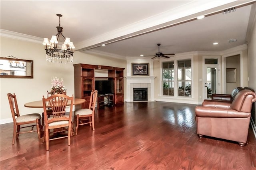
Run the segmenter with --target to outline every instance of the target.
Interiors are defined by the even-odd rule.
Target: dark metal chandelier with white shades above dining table
[[[44,38],[43,45],[46,50],[46,61],[54,63],[72,63],[73,62],[73,49],[75,48],[70,38],[65,38],[62,34],[62,27],[60,26],[61,14],[56,14],[59,17],[59,26],[57,26],[58,33],[52,36],[50,42],[48,38]],[[64,38],[64,43],[61,48],[58,48],[59,38]]]

